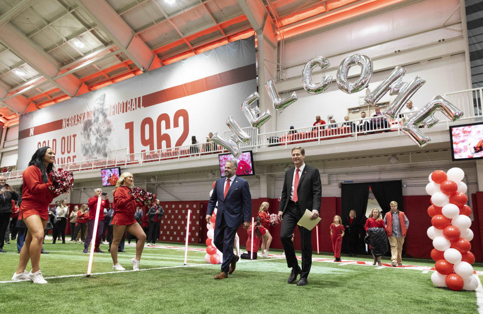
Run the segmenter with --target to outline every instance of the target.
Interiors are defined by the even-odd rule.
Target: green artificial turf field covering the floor
[[[6,244],[4,249],[8,252],[0,255],[0,281],[12,278],[19,259],[15,244]],[[89,255],[82,253],[83,244],[44,244],[44,249],[50,252],[40,259],[44,277],[86,273]],[[92,272],[112,272],[107,245],[101,249],[106,253],[95,254]],[[119,262],[132,270],[135,248],[126,245],[125,250],[119,253]],[[242,260],[228,279],[214,280],[220,265],[206,264],[204,255],[189,251],[189,266],[184,266],[184,250],[149,247],[141,259],[144,271],[51,278],[46,285],[0,283],[0,313],[477,312],[475,292],[436,288],[432,272],[314,261],[309,285],[298,287],[287,284],[290,270],[285,259]],[[366,256],[356,260],[372,261]],[[431,260],[403,263],[434,266]],[[481,264],[473,267],[483,270]]]

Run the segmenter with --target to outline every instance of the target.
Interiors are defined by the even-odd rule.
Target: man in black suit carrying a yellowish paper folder
[[[305,210],[312,212],[311,219],[319,217],[322,184],[319,170],[305,164],[305,150],[301,147],[292,149],[292,160],[295,167],[285,172],[284,187],[279,207],[279,219],[282,221],[280,238],[285,249],[287,266],[292,268],[289,283],[296,283],[300,274],[298,286],[307,284],[307,276],[312,266],[312,231],[299,226],[300,244],[302,247],[302,269],[295,257],[292,233]]]

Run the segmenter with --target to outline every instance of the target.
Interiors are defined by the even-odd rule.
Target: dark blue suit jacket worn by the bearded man
[[[220,226],[222,217],[230,228],[238,228],[243,221],[251,221],[251,195],[248,182],[238,176],[231,182],[226,198],[225,179],[218,179],[213,189],[213,194],[208,203],[206,215],[212,215],[218,201],[218,211],[215,226]]]

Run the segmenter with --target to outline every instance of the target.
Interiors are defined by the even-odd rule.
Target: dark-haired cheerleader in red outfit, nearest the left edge
[[[49,189],[52,182],[48,174],[52,171],[54,162],[55,153],[50,147],[39,148],[32,155],[28,168],[22,173],[19,219],[25,222],[28,231],[20,251],[19,266],[12,280],[30,279],[34,283],[47,283],[40,272],[39,261],[44,229],[49,219],[48,206],[58,196]],[[32,270],[27,273],[29,260]]]

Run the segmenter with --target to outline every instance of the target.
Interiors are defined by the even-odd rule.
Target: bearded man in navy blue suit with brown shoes
[[[248,182],[235,175],[236,160],[225,164],[225,177],[218,179],[206,211],[206,223],[210,223],[213,210],[218,202],[213,242],[223,252],[222,271],[215,279],[225,279],[233,273],[239,257],[233,254],[233,242],[238,227],[243,222],[245,230],[250,226],[251,195]]]

